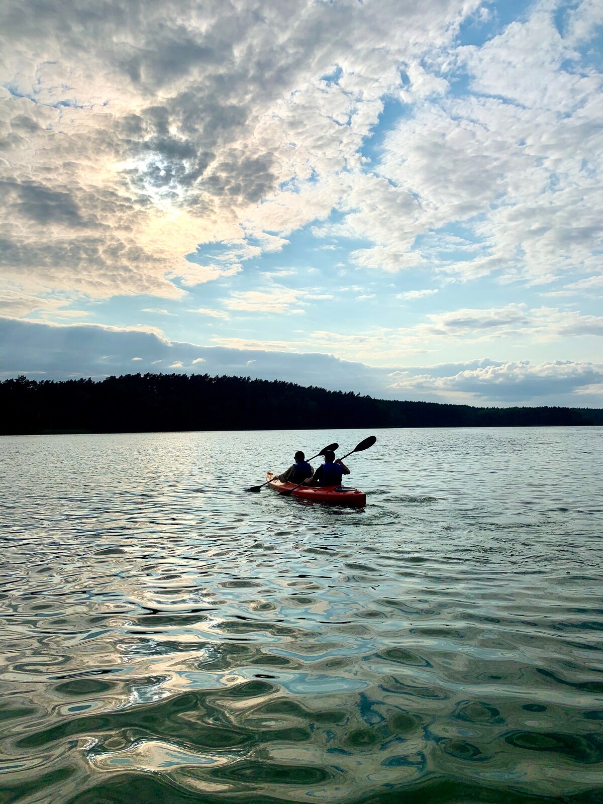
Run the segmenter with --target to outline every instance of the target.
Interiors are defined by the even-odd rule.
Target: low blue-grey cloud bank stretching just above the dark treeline
[[[285,379],[333,390],[368,393],[390,399],[462,401],[470,404],[603,405],[603,365],[580,361],[494,361],[440,363],[431,366],[371,367],[317,351],[294,351],[291,343],[226,342],[211,347],[170,342],[157,334],[95,325],[49,325],[0,318],[0,374],[104,377],[132,371],[130,355],[156,371],[195,371],[203,363],[210,375]],[[349,337],[358,351],[358,341]],[[285,351],[289,347],[289,351]]]

